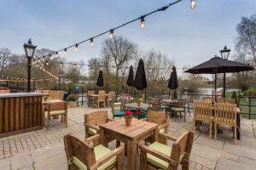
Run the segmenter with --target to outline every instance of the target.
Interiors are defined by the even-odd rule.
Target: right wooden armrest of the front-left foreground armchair
[[[101,159],[96,161],[96,164],[90,167],[90,169],[97,169],[97,167],[102,166],[107,161],[111,160],[114,156],[119,156],[119,154],[123,154],[124,146],[119,146],[118,148],[109,152],[106,156],[102,156]]]

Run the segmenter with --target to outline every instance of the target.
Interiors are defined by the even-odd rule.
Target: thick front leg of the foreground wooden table
[[[127,166],[129,170],[137,169],[137,143],[135,141],[127,141]]]

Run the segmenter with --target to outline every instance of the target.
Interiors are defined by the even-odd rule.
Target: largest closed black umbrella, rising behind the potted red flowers
[[[136,72],[133,86],[138,90],[141,90],[141,95],[142,95],[142,90],[148,87],[143,59],[140,59],[137,65],[137,72]]]

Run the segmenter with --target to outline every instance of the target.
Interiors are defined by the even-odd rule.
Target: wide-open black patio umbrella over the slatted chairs
[[[201,65],[189,69],[188,71],[192,74],[215,74],[215,100],[216,100],[216,89],[217,89],[217,77],[218,73],[228,72],[240,72],[240,71],[253,71],[253,67],[250,65],[244,65],[228,59],[222,59],[215,55],[212,59],[207,60]],[[224,88],[225,89],[225,88]],[[225,93],[225,92],[224,92]]]

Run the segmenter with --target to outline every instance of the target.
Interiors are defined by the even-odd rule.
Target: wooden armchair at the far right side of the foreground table
[[[148,116],[146,118],[147,122],[154,122],[156,124],[158,124],[158,129],[159,129],[159,133],[168,133],[168,127],[170,125],[169,122],[169,116],[162,111],[148,111]],[[149,137],[148,139],[145,140],[145,144],[146,142],[149,143],[153,143],[152,142],[153,139],[151,137]],[[166,144],[166,139],[159,137],[158,141],[162,144]]]

